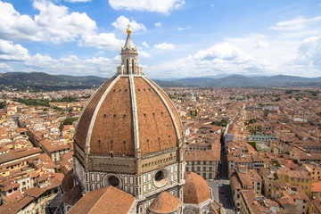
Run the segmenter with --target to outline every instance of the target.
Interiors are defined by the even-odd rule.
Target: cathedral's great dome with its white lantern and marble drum
[[[110,185],[132,194],[136,213],[157,213],[155,203],[167,200],[177,204],[171,212],[182,213],[181,121],[166,93],[144,76],[127,31],[117,74],[95,91],[79,116],[74,185],[84,194]]]

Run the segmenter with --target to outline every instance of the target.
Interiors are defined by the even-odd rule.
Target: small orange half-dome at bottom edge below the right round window
[[[151,210],[153,213],[172,213],[176,211],[179,206],[180,201],[177,196],[164,191],[157,195],[148,210]]]

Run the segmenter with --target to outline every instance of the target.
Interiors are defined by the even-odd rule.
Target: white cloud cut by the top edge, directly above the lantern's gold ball
[[[114,10],[161,12],[169,14],[173,9],[181,8],[184,0],[109,0]]]

